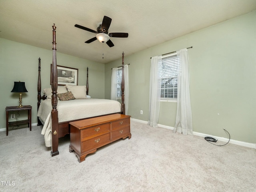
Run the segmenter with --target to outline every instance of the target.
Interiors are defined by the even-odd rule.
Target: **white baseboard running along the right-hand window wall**
[[[144,124],[148,124],[147,121],[142,121],[142,120],[138,120],[138,119],[134,119],[134,118],[131,118],[131,120],[136,121],[136,122],[140,122],[140,123],[144,123]],[[170,130],[174,129],[174,127],[161,125],[161,124],[158,124],[158,127],[162,127],[162,128],[166,128],[166,129],[170,129]],[[196,135],[196,136],[200,136],[200,137],[212,137],[212,138],[215,138],[215,139],[223,141],[223,142],[228,142],[228,138],[224,138],[224,137],[212,136],[212,135],[207,135],[207,134],[204,134],[204,133],[198,133],[198,132],[194,132],[194,131],[193,131],[193,134]],[[247,142],[237,141],[237,140],[233,140],[233,139],[230,139],[229,142],[232,143],[232,144],[236,144],[236,145],[256,149],[256,144],[255,143],[247,143]]]

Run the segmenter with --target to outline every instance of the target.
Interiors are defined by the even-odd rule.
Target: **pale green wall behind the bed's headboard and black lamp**
[[[86,85],[86,71],[89,68],[89,95],[104,98],[104,64],[58,53],[57,65],[78,68],[78,85]],[[50,64],[52,46],[49,50],[0,38],[0,128],[6,128],[6,106],[19,105],[19,93],[11,93],[14,81],[24,81],[27,93],[22,94],[22,105],[32,106],[32,124],[37,123],[37,81],[38,58],[41,58],[42,90],[50,88]],[[43,94],[41,92],[41,94]],[[12,112],[10,112],[12,114]],[[16,114],[17,116],[18,114]],[[24,120],[26,111],[20,112]]]

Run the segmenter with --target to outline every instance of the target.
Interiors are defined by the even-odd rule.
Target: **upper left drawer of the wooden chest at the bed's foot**
[[[89,137],[102,134],[104,132],[110,131],[110,124],[104,123],[97,126],[92,126],[90,128],[83,129],[81,131],[81,140],[87,139]]]

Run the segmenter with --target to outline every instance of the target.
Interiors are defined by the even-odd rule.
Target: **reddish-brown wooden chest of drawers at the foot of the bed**
[[[130,116],[111,114],[70,122],[69,151],[75,151],[78,162],[106,144],[120,138],[131,138]]]

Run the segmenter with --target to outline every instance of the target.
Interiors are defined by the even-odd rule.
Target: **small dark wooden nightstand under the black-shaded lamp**
[[[22,120],[22,121],[9,122],[9,112],[10,111],[21,111],[21,110],[28,110],[28,119]],[[32,110],[32,106],[30,106],[30,105],[24,105],[23,107],[9,106],[9,107],[5,108],[5,111],[6,111],[6,136],[8,136],[9,125],[14,126],[14,125],[27,123],[28,127],[30,128],[30,131],[31,131],[31,110]]]

